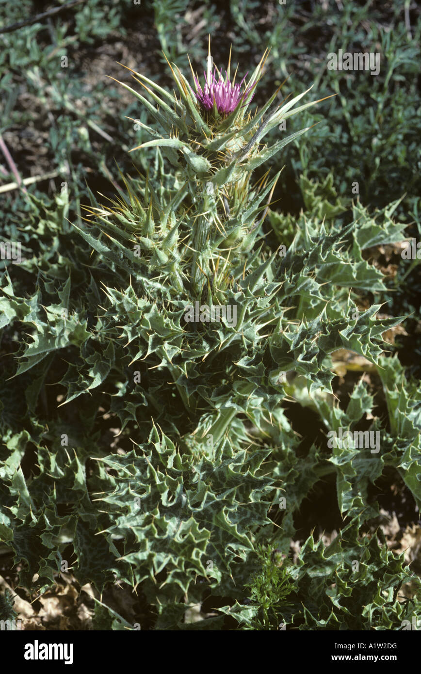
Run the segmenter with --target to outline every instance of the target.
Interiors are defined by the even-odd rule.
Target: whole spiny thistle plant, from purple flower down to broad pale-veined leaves
[[[315,102],[297,105],[307,92],[278,102],[277,90],[257,109],[266,57],[250,75],[245,67],[241,78],[231,74],[231,57],[220,71],[210,51],[202,78],[169,65],[172,94],[132,71],[140,91],[122,86],[152,119],[134,120],[152,140],[132,152],[150,156],[148,174],[121,175],[123,187],[107,204],[90,194],[86,224],[72,225],[68,257],[51,272],[62,282],[59,289],[41,278],[28,299],[16,297],[8,274],[1,282],[1,328],[20,321],[33,341],[22,346],[16,372],[7,362],[1,384],[0,540],[22,564],[20,583],[31,586],[38,574],[40,592],[72,545],[78,582],[100,591],[116,577],[140,585],[157,613],[156,629],[184,629],[186,609],[210,592],[236,603],[204,619],[204,629],[221,629],[225,615],[268,629],[292,613],[300,629],[328,623],[345,629],[351,610],[337,601],[331,608],[337,581],[321,542],[309,539],[295,569],[279,566],[279,559],[256,563],[258,546],[287,553],[295,514],[328,474],[337,476],[341,516],[358,520],[353,537],[343,542],[350,560],[362,559],[358,550],[368,546],[358,538],[359,524],[378,514],[378,504],[368,503],[368,487],[383,470],[397,470],[421,506],[420,405],[411,402],[421,393],[404,383],[393,359],[383,358],[382,336],[401,319],[378,319],[379,305],[362,310],[358,302],[359,294],[385,291],[383,274],[364,251],[401,240],[404,226],[391,218],[397,204],[373,216],[358,203],[346,226],[335,222],[339,207],[329,218],[320,216],[329,204],[316,196],[312,212],[296,220],[271,208],[281,171],[257,179],[253,171],[308,127],[269,143],[266,134]],[[66,199],[61,195],[48,217],[57,231]],[[284,255],[260,241],[266,217],[279,243],[287,244]],[[34,216],[28,228],[37,226]],[[232,320],[228,311],[221,318],[221,310],[214,320],[221,307],[235,308],[235,319],[233,311]],[[365,415],[374,419],[364,382],[346,410],[333,404],[331,355],[339,349],[358,353],[384,379],[390,418],[383,426],[373,422],[387,447],[378,458],[356,459],[352,448],[329,452],[314,444],[303,456],[285,414],[285,401],[293,400],[304,414],[311,406],[326,429],[354,428]],[[47,419],[41,410],[35,417],[49,369],[55,372],[57,363],[63,369],[64,362],[58,385],[65,398],[57,415]],[[12,432],[9,379],[30,377],[32,368],[36,377],[26,380],[27,394],[18,402],[35,421]],[[57,386],[57,377],[48,381],[49,390]],[[53,394],[62,395],[63,388]],[[395,419],[398,394],[401,415]],[[67,416],[62,406],[75,400]],[[96,429],[103,410],[119,427],[118,452]],[[18,468],[28,444],[36,448],[37,471],[30,477]],[[329,554],[340,561],[335,545]],[[382,578],[377,557],[383,548],[376,555],[372,564]],[[385,588],[390,593],[408,574],[401,561],[393,567],[392,553],[383,557],[384,568],[399,573]],[[325,581],[307,611],[312,564],[317,582],[320,569]],[[344,567],[344,583],[345,573]],[[359,605],[378,607],[377,584]],[[245,606],[248,590],[253,603]],[[389,628],[403,613],[397,605],[387,610]],[[110,613],[104,619],[99,611],[98,620],[117,618]]]

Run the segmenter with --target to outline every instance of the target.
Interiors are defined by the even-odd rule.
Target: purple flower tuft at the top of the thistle
[[[217,69],[213,71],[213,74],[210,73],[210,78],[206,77],[206,72],[204,72],[204,88],[200,86],[197,78],[194,78],[194,83],[196,84],[196,93],[194,94],[202,104],[205,110],[213,110],[213,102],[217,105],[217,111],[220,115],[229,115],[237,107],[239,102],[242,102],[250,96],[254,86],[247,87],[242,92],[242,84],[246,79],[248,73],[244,75],[244,78],[240,84],[231,84],[228,79],[227,71],[225,70],[225,80],[222,76],[222,73],[219,73],[219,80],[215,77]],[[209,81],[210,80],[210,81]],[[254,96],[254,94],[253,94]],[[252,98],[253,98],[252,96]],[[251,100],[251,98],[250,98]]]

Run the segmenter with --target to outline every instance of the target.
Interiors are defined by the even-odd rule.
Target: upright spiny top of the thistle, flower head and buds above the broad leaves
[[[260,234],[267,203],[279,173],[270,181],[265,175],[252,185],[252,172],[308,127],[277,140],[269,147],[264,136],[281,121],[312,106],[296,107],[309,91],[269,109],[279,89],[259,110],[250,111],[256,86],[267,57],[246,82],[231,78],[231,53],[223,76],[214,67],[209,43],[204,86],[192,70],[192,84],[176,66],[169,65],[177,93],[169,94],[145,75],[133,71],[142,93],[122,84],[136,96],[155,119],[154,128],[138,122],[154,140],[134,150],[160,148],[173,167],[174,185],[179,185],[170,204],[161,206],[147,191],[147,204],[137,202],[136,226],[130,231],[152,268],[171,275],[177,294],[192,293],[198,300],[227,287],[227,279],[240,260],[246,259]],[[155,105],[143,94],[149,94]],[[267,113],[267,114],[266,114]],[[264,115],[266,117],[264,118]],[[132,152],[134,151],[132,150]],[[131,220],[122,204],[114,214]],[[122,210],[121,210],[122,208]],[[111,210],[111,209],[109,209]],[[113,212],[111,210],[111,212]],[[216,290],[217,288],[217,290]]]

